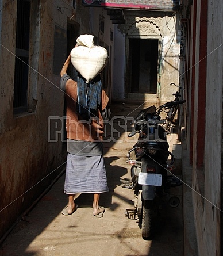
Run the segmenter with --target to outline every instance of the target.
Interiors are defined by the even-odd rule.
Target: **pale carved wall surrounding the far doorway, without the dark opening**
[[[179,54],[180,37],[178,16],[164,16],[163,13],[155,14],[147,12],[126,14],[126,24],[118,25],[114,52],[114,100],[129,98],[130,100],[148,100],[156,98],[167,101],[172,100],[172,93],[178,88],[170,86],[171,82],[179,84]],[[159,39],[159,63],[160,63],[160,94],[146,95],[128,93],[128,51],[129,38]],[[125,52],[122,58],[120,52]],[[125,74],[123,77],[123,73]],[[158,77],[157,77],[158,79]],[[143,98],[141,98],[143,97]]]

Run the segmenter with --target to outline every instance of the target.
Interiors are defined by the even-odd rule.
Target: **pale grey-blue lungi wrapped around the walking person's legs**
[[[68,153],[64,193],[104,193],[109,191],[102,155],[80,156]]]

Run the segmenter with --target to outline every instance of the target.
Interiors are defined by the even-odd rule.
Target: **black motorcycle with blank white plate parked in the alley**
[[[128,137],[139,134],[137,143],[128,152],[131,179],[121,179],[123,188],[134,190],[134,209],[126,209],[129,219],[139,219],[143,239],[151,239],[155,231],[155,219],[159,201],[168,198],[171,207],[178,207],[179,197],[170,196],[171,187],[182,185],[174,175],[167,171],[174,169],[174,155],[168,151],[166,131],[160,113],[185,101],[171,101],[156,108],[149,106],[137,115],[134,130]],[[170,163],[167,159],[170,158]]]

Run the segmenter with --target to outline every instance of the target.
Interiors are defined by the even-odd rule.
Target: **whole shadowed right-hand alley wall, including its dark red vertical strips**
[[[190,60],[186,70],[190,78],[186,88],[187,150],[193,170],[198,255],[222,255],[222,12],[222,3],[197,0],[187,16],[191,19],[187,21],[191,32],[186,55]]]

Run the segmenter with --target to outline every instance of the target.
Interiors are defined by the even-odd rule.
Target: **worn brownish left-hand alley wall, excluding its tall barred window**
[[[80,0],[75,8],[72,1],[59,0],[33,0],[31,5],[28,110],[21,114],[13,114],[17,1],[0,5],[0,238],[64,171],[64,93],[59,72],[67,58],[67,27],[71,23],[75,28],[71,34],[77,36],[98,35],[102,12],[83,7]],[[105,14],[102,40],[107,45],[112,44],[112,26]]]

